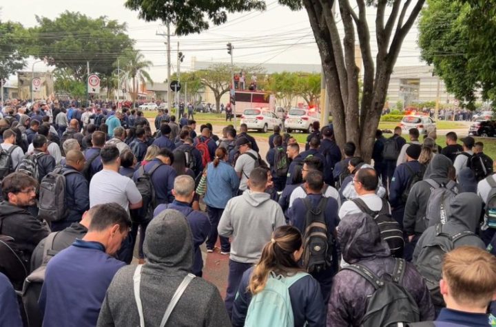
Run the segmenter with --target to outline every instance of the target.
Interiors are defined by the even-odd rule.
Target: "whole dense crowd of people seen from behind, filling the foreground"
[[[370,165],[333,125],[260,154],[246,125],[165,110],[2,114],[0,326],[496,324],[496,176],[471,137],[378,130]]]

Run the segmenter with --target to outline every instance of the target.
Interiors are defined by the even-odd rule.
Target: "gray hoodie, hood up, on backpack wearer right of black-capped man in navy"
[[[403,229],[407,235],[422,234],[426,229],[424,218],[432,189],[431,184],[425,180],[431,178],[438,184],[446,184],[450,167],[453,167],[453,162],[448,157],[437,154],[429,162],[424,180],[415,183],[411,188],[403,216]]]

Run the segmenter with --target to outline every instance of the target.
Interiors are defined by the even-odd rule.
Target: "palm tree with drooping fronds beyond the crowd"
[[[119,61],[121,63],[121,70],[123,70],[122,80],[127,84],[126,88],[130,90],[131,99],[134,103],[136,98],[138,98],[140,83],[142,85],[146,82],[153,84],[152,78],[150,78],[146,71],[153,63],[152,61],[145,60],[145,56],[138,50],[131,50],[125,56],[120,57]]]

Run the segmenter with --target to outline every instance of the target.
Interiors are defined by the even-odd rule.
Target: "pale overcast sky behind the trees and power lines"
[[[128,32],[136,40],[136,48],[154,63],[150,74],[154,81],[164,81],[167,77],[167,56],[161,22],[147,23],[138,19],[137,12],[128,10],[123,0],[16,0],[3,1],[1,21],[19,21],[25,27],[36,25],[35,15],[54,19],[65,10],[79,11],[90,17],[107,16],[120,23],[127,23]],[[368,17],[371,33],[375,33],[374,12]],[[337,18],[339,20],[339,17]],[[371,36],[375,40],[375,36]],[[412,28],[406,36],[402,52],[397,60],[398,66],[420,64],[417,49],[417,29]],[[277,1],[268,0],[265,12],[245,12],[229,14],[227,23],[211,28],[201,34],[191,36],[172,36],[172,72],[176,70],[177,42],[185,54],[181,71],[189,70],[192,57],[197,61],[229,61],[226,43],[231,41],[235,47],[234,61],[243,63],[313,63],[320,64],[318,49],[304,10],[292,12]],[[373,45],[375,48],[375,45]],[[28,61],[31,69],[32,61]],[[35,66],[35,71],[46,70],[43,63]]]

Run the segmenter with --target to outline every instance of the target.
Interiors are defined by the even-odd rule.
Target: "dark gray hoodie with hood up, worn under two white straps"
[[[172,295],[193,264],[193,240],[185,216],[167,209],[147,227],[140,295],[145,326],[160,326]],[[107,290],[97,326],[139,326],[134,299],[136,266],[119,270]],[[195,278],[172,311],[166,326],[231,326],[216,286]]]

